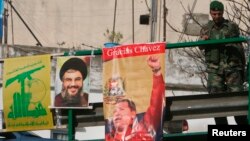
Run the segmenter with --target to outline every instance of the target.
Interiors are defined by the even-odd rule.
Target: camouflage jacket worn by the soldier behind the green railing
[[[224,19],[220,27],[217,27],[210,20],[201,29],[200,35],[207,35],[209,40],[215,40],[239,37],[240,31],[238,25],[229,20]],[[239,68],[242,68],[245,64],[245,55],[241,43],[208,45],[202,46],[200,49],[205,51],[205,60],[208,67],[211,66],[209,64],[219,67],[221,62],[229,64],[230,67],[240,66]]]

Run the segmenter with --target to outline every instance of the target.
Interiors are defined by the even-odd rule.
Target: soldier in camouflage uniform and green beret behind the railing
[[[223,18],[224,6],[219,1],[210,3],[210,20],[202,29],[203,40],[239,37],[239,27]],[[200,47],[205,52],[209,93],[243,91],[245,55],[241,43]],[[246,116],[235,116],[237,124],[247,124]],[[215,118],[216,124],[228,124],[226,117]]]

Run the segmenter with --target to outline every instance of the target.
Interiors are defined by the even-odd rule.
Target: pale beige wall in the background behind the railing
[[[151,8],[151,0],[133,1],[135,43],[149,42],[150,25],[140,25],[139,18],[140,15],[150,13],[148,8]],[[197,14],[209,14],[210,1],[166,0],[167,21],[181,31],[183,15],[189,10]],[[221,1],[225,4],[225,8],[229,8],[226,0]],[[91,49],[82,45],[86,44],[103,47],[103,43],[108,42],[103,34],[106,29],[112,30],[114,25],[115,0],[12,0],[12,4],[43,46]],[[11,12],[10,6],[5,4],[5,7],[8,7],[9,14],[8,43],[36,45],[36,40],[16,13]],[[162,41],[163,0],[158,0],[157,18],[156,41]],[[115,21],[115,31],[121,32],[124,36],[120,43],[132,43],[132,0],[117,0]],[[167,42],[178,42],[187,38],[181,37],[181,33],[176,33],[168,24],[166,25]],[[191,37],[191,39],[196,38]]]

